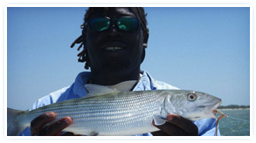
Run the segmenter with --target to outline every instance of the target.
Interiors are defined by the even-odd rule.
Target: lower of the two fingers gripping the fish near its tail
[[[58,121],[52,123],[50,126],[46,126],[42,132],[38,133],[38,136],[60,135],[62,130],[71,124],[72,119],[70,117],[59,119]]]

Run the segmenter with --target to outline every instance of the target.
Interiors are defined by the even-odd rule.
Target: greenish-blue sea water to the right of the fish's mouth
[[[228,116],[218,122],[222,136],[250,136],[250,109],[219,111]]]

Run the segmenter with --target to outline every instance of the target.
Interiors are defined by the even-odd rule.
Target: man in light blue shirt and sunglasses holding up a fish
[[[114,86],[121,91],[143,91],[176,89],[176,87],[152,78],[147,71],[141,70],[148,44],[149,29],[142,8],[89,8],[82,36],[74,44],[81,44],[83,51],[78,55],[80,62],[86,62],[73,85],[52,92],[34,104],[33,108],[49,105],[66,99],[86,96],[86,84]],[[79,49],[80,49],[79,48]],[[128,82],[126,82],[128,81]],[[62,133],[72,124],[70,117],[59,119],[47,125],[56,114],[45,112],[31,121],[31,128],[21,135],[75,135]],[[156,126],[161,131],[139,135],[214,135],[216,119],[200,119],[192,122],[178,115],[169,114],[168,122]],[[219,134],[219,133],[218,133]]]

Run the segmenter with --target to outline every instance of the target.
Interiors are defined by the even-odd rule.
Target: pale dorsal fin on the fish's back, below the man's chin
[[[114,89],[108,88],[107,86],[104,86],[104,85],[86,84],[85,87],[86,87],[87,96],[97,96],[97,95],[102,95],[107,93],[119,92]]]

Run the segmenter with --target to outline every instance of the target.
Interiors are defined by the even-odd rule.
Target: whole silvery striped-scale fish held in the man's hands
[[[44,112],[57,114],[52,122],[63,117],[73,119],[64,132],[101,136],[151,133],[159,130],[152,121],[163,125],[170,113],[192,121],[216,118],[213,111],[222,102],[210,94],[189,90],[121,92],[103,85],[86,84],[85,87],[88,93],[80,99],[68,99],[31,111],[7,108],[7,135],[18,135]]]

